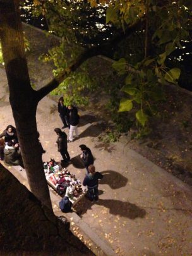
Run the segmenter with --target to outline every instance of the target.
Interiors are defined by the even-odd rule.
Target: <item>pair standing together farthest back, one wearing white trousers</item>
[[[58,101],[58,112],[63,122],[64,128],[69,128],[69,140],[68,142],[73,142],[73,133],[75,132],[75,137],[78,138],[78,123],[80,120],[80,116],[78,114],[78,110],[75,106],[69,105],[68,107],[64,105],[63,97],[59,98]]]

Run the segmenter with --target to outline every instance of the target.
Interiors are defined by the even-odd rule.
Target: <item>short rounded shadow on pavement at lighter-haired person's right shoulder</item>
[[[128,178],[124,177],[120,173],[117,173],[117,171],[101,171],[104,175],[104,178],[100,180],[100,184],[107,184],[109,185],[113,190],[116,190],[117,188],[122,188],[123,186],[126,186],[128,183]]]

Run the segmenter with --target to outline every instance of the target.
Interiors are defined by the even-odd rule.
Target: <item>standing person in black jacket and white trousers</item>
[[[78,115],[77,108],[73,105],[68,106],[69,109],[69,140],[68,142],[73,142],[73,132],[75,131],[75,137],[78,138],[78,123],[80,116]]]

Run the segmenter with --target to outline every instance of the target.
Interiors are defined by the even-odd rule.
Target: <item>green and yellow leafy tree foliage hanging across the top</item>
[[[165,83],[177,85],[181,74],[181,70],[174,66],[173,55],[176,49],[183,49],[184,42],[191,40],[192,1],[35,0],[33,3],[33,13],[42,13],[49,32],[63,40],[61,46],[45,56],[56,64],[54,72],[59,73],[68,66],[84,47],[98,46],[108,40],[109,52],[113,52],[114,58],[121,56],[112,66],[124,77],[117,110],[119,114],[131,111],[141,126],[147,125],[158,112],[157,102],[165,99]],[[132,32],[133,36],[127,36],[128,28],[135,24],[138,27]],[[116,47],[110,46],[111,37],[122,30],[123,42]],[[92,87],[88,77],[84,67],[64,82],[58,93],[64,90],[71,101],[78,99],[85,84],[88,85],[86,88]],[[81,102],[80,98],[78,102]]]

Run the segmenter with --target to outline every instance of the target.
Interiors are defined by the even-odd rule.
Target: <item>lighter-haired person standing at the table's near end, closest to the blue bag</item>
[[[98,191],[98,180],[103,178],[103,175],[98,171],[95,172],[95,166],[90,164],[88,166],[89,173],[85,176],[83,180],[83,186],[87,186],[87,197],[90,201],[98,201],[99,200],[99,191]]]

